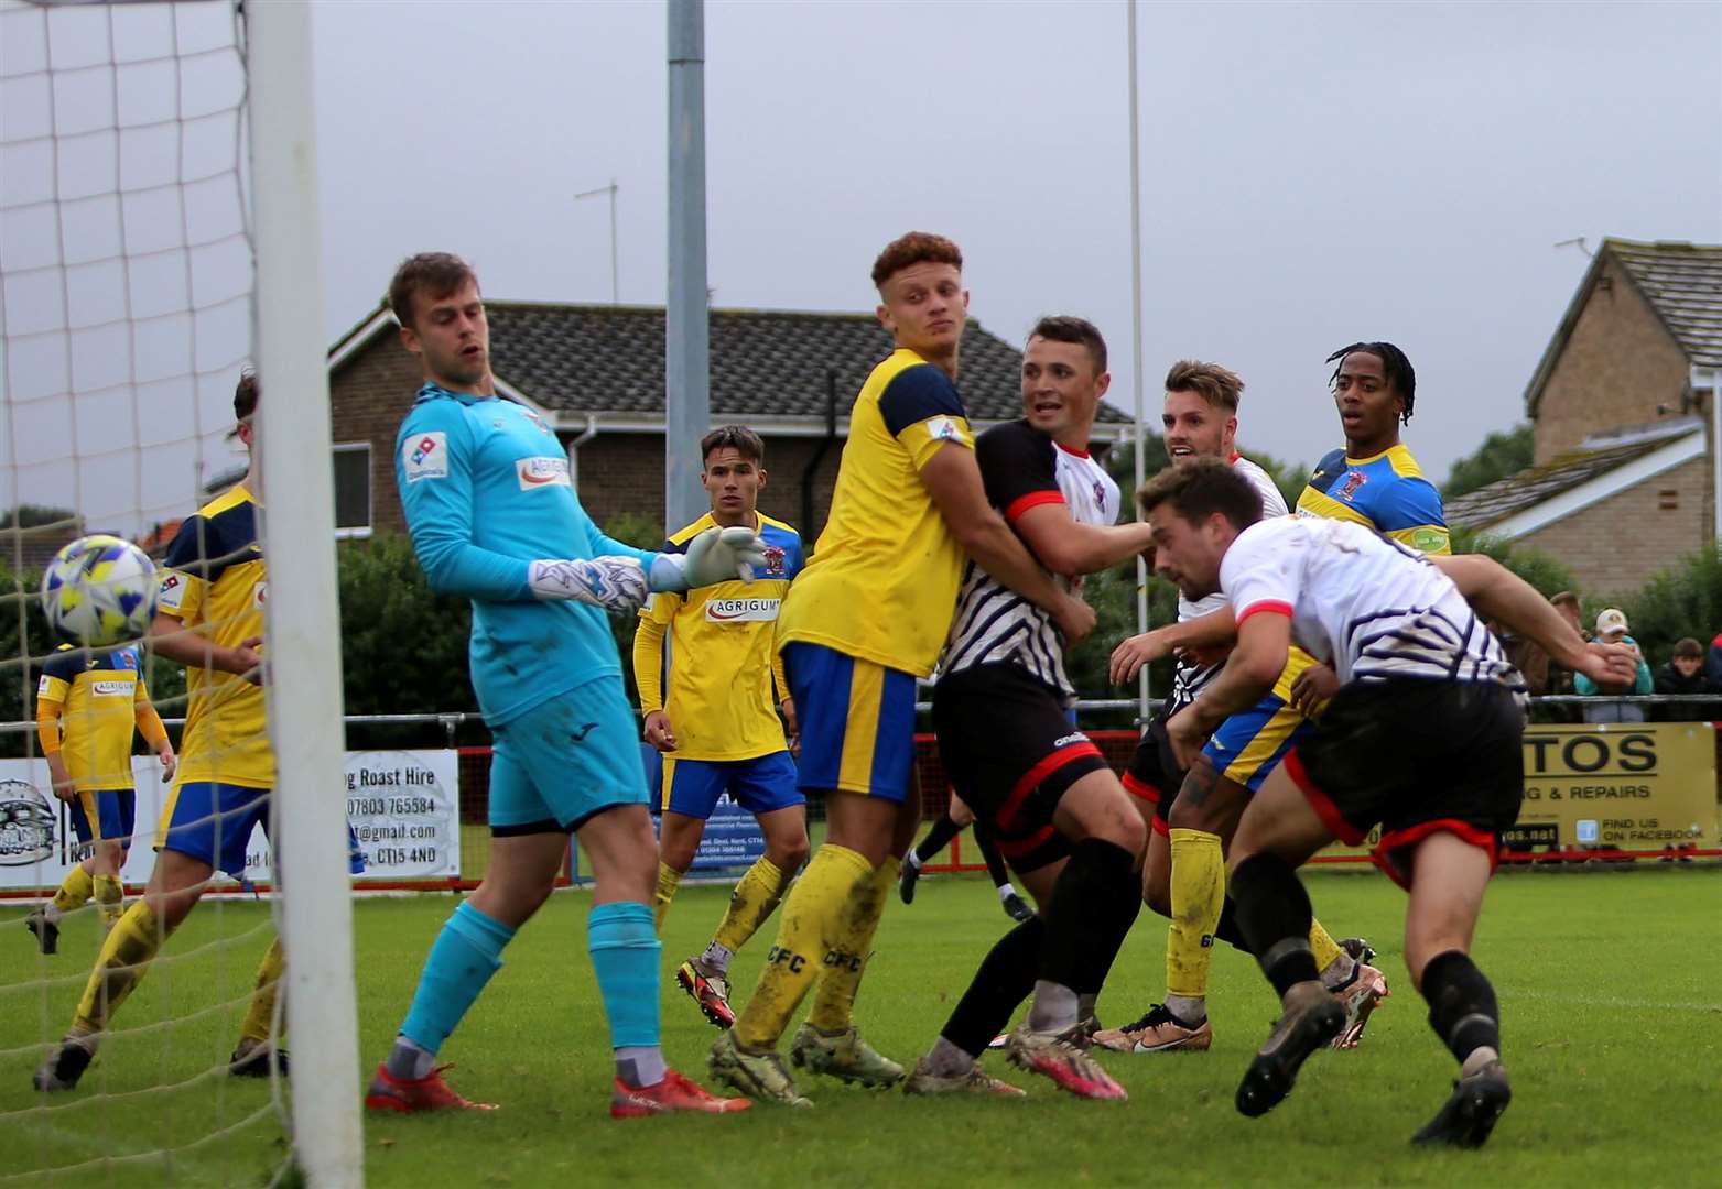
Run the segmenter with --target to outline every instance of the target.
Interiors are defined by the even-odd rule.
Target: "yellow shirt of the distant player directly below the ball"
[[[146,709],[136,649],[93,654],[62,644],[41,666],[36,702],[59,719],[60,755],[77,792],[133,786],[131,733],[146,719],[160,731],[155,711]]]

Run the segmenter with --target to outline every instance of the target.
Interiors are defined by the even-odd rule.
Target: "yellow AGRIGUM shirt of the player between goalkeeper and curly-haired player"
[[[665,549],[684,552],[715,523],[706,513],[672,535]],[[754,759],[787,749],[771,695],[773,675],[780,697],[789,688],[777,671],[771,635],[784,592],[801,570],[801,535],[761,513],[759,540],[766,568],[754,582],[660,592],[641,607],[634,681],[642,711],[670,716],[677,759]]]

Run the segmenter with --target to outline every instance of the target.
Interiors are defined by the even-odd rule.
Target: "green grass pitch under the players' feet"
[[[539,1184],[1164,1184],[1164,1186],[1712,1186],[1722,1180],[1722,869],[1514,872],[1490,890],[1476,955],[1502,998],[1514,1105],[1481,1153],[1428,1153],[1410,1134],[1446,1094],[1453,1062],[1424,1022],[1398,960],[1403,898],[1372,874],[1312,874],[1335,936],[1364,934],[1395,988],[1362,1048],[1321,1053],[1292,1098],[1245,1120],[1231,1096],[1276,1015],[1240,953],[1214,955],[1209,1053],[1112,1057],[1121,1105],[1076,1101],[1050,1084],[994,1072],[1025,1101],[906,1100],[804,1079],[816,1108],[756,1106],[728,1118],[608,1118],[610,1058],[585,960],[587,896],[558,893],[510,946],[506,965],[444,1050],[449,1081],[503,1103],[494,1115],[367,1118],[372,1186]],[[715,1031],[670,979],[725,903],[723,888],[677,896],[665,938],[665,1048],[706,1079]],[[95,946],[88,914],[62,955],[34,957],[22,910],[0,909],[0,1184],[263,1184],[282,1158],[270,1087],[227,1077],[183,1089],[232,1046],[267,909],[201,907],[143,983],[124,1029],[84,1077],[48,1100],[29,1091],[34,1053],[59,1036]],[[356,905],[363,1057],[375,1062],[406,1007],[453,898]],[[1007,926],[985,879],[926,878],[913,907],[892,902],[859,1020],[904,1063],[937,1034],[985,948]],[[775,922],[768,924],[768,931]],[[1100,1000],[1107,1024],[1140,1013],[1164,986],[1166,926],[1147,914]],[[229,941],[220,945],[222,938]],[[753,988],[770,938],[737,958]],[[43,981],[46,976],[46,981]],[[236,1000],[231,1007],[212,1007]],[[201,1012],[201,1013],[200,1013]],[[181,1020],[167,1026],[169,1019]],[[155,1027],[150,1027],[155,1026]],[[369,1065],[367,1065],[369,1069]],[[358,1072],[355,1070],[355,1077]],[[102,1098],[100,1093],[114,1094]],[[217,1127],[231,1137],[172,1158],[31,1175],[100,1156],[179,1146]],[[308,1137],[315,1143],[315,1137]]]

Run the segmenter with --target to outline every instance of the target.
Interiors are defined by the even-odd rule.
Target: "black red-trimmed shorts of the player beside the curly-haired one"
[[[1052,812],[1064,790],[1109,766],[1050,687],[1014,664],[959,669],[933,687],[933,731],[951,786],[1006,862],[1035,871],[1069,853]]]

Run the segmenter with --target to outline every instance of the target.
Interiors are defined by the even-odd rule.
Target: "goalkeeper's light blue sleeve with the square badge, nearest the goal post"
[[[406,477],[406,442],[427,434],[444,435],[441,473]],[[460,403],[429,399],[413,406],[394,439],[394,487],[401,494],[406,530],[418,564],[437,594],[487,602],[530,599],[529,563],[472,544],[472,434]]]

